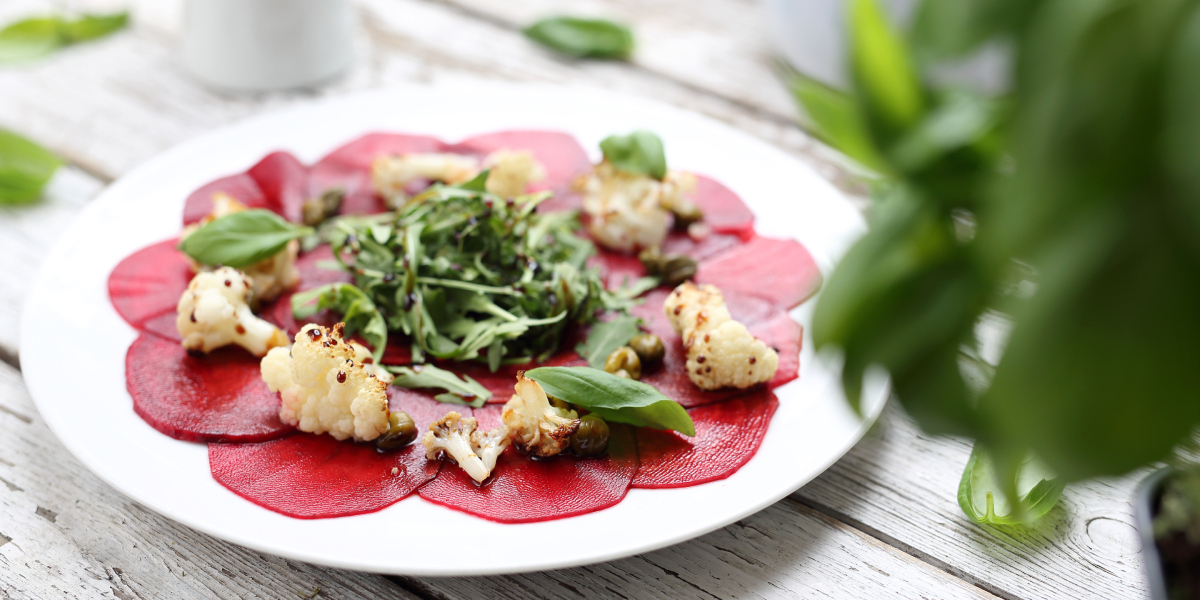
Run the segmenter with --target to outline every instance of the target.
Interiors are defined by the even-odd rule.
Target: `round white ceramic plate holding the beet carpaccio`
[[[712,175],[738,192],[757,228],[800,240],[821,270],[865,230],[851,204],[786,154],[700,115],[598,90],[528,85],[403,88],[330,98],[251,119],[180,145],[92,200],[53,248],[25,302],[22,370],[42,416],[91,470],[134,500],[234,544],[298,560],[407,575],[485,575],[554,569],[677,544],[758,511],[845,454],[887,396],[869,382],[865,419],[846,406],[835,371],[805,334],[800,378],[776,390],[780,408],[758,454],[724,481],[680,490],[631,490],[618,505],[572,517],[607,532],[589,544],[520,544],[464,552],[467,540],[560,536],[562,521],[498,524],[416,494],[370,515],[289,518],[246,502],[209,474],[204,444],[179,442],[142,421],[125,389],[125,350],[136,337],[108,301],[116,263],[176,235],[187,194],[287,149],[312,162],[371,131],[446,140],[504,128],[574,133],[595,149],[605,136],[658,132],[670,164]],[[809,301],[793,312],[806,325]],[[469,542],[467,542],[469,545]],[[478,545],[476,545],[478,546]]]

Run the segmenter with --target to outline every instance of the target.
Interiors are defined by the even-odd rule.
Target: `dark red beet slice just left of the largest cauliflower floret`
[[[292,432],[259,359],[241,348],[190,356],[179,342],[142,334],[125,355],[133,412],[187,442],[264,442]]]

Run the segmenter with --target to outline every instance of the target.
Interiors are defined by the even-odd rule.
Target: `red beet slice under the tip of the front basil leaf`
[[[775,394],[762,390],[688,410],[694,438],[638,427],[632,487],[688,487],[732,475],[758,451],[776,408]]]

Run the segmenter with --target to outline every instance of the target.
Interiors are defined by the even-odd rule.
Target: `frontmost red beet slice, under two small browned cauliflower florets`
[[[475,410],[480,427],[499,422],[499,407]],[[534,461],[515,448],[500,455],[492,478],[478,485],[455,464],[446,464],[421,498],[500,523],[532,523],[584,515],[619,503],[637,470],[637,449],[629,427],[612,425],[608,451],[594,458],[562,455]]]

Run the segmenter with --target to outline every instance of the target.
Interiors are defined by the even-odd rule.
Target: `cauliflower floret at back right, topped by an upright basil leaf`
[[[671,206],[695,187],[696,178],[690,173],[667,172],[659,181],[625,173],[608,161],[575,181],[575,188],[583,192],[588,233],[605,247],[623,252],[662,244]]]

